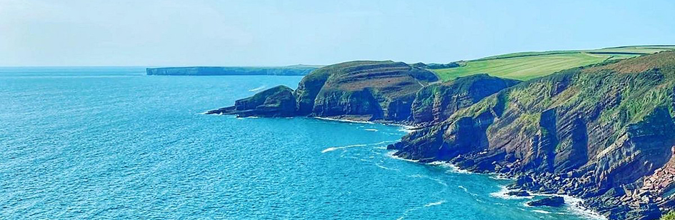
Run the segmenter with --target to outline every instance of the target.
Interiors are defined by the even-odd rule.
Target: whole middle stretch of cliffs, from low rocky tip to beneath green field
[[[432,124],[519,82],[486,74],[434,84],[437,80],[430,71],[401,62],[351,61],[313,71],[300,81],[298,89],[291,91],[292,94],[284,92],[284,96],[271,96],[279,92],[279,88],[273,88],[236,101],[235,106],[209,111],[209,114],[321,116]],[[278,97],[292,97],[295,107],[280,105],[276,106],[277,109],[259,109],[264,99],[274,100]]]

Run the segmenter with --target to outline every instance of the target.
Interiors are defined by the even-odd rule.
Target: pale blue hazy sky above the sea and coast
[[[448,63],[675,44],[675,1],[0,0],[0,66]]]

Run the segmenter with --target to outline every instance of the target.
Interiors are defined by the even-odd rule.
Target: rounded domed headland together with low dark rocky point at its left
[[[404,121],[411,117],[411,104],[416,92],[437,80],[431,71],[401,62],[351,61],[326,66],[305,76],[296,91],[284,93],[284,98],[293,97],[294,108],[284,105],[277,110],[283,111],[284,116]],[[254,115],[260,111],[243,112],[237,106],[248,102],[246,100],[259,97],[256,98],[258,100],[270,94],[269,90],[262,91],[251,98],[237,101],[234,109],[223,108],[209,113]],[[249,105],[246,107],[244,109],[249,109]]]

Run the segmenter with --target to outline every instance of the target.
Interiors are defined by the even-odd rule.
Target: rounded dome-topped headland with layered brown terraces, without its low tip
[[[298,89],[314,98],[314,116],[361,119],[408,119],[416,92],[436,75],[424,69],[392,61],[354,61],[331,66],[330,76],[319,91],[300,82]],[[314,74],[314,73],[313,73]],[[318,74],[323,74],[319,72]],[[408,109],[408,111],[406,111]]]

